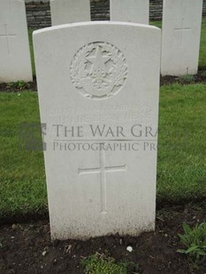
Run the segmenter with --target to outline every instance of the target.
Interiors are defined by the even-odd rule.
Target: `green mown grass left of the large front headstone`
[[[36,93],[0,94],[0,217],[46,209],[42,152],[19,150],[19,124],[39,121]]]

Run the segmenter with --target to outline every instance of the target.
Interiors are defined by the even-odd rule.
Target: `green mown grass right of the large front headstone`
[[[157,199],[206,197],[206,85],[161,88]]]

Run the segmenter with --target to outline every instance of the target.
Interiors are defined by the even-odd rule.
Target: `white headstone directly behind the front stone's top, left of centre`
[[[50,0],[51,25],[90,21],[90,0]]]

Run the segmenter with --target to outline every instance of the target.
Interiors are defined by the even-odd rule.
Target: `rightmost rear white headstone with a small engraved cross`
[[[196,74],[202,0],[164,0],[162,75]]]

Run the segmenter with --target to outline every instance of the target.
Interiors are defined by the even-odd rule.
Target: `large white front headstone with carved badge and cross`
[[[160,47],[131,23],[34,32],[52,239],[154,230]]]

